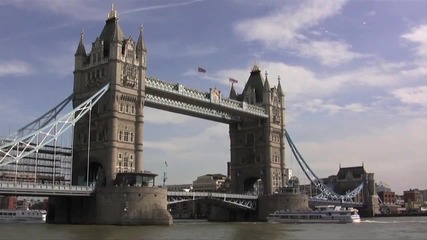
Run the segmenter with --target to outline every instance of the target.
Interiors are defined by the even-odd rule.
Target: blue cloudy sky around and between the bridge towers
[[[0,135],[71,93],[80,31],[89,50],[110,4],[0,1]],[[280,75],[287,130],[318,176],[363,162],[397,193],[427,188],[427,1],[114,4],[126,36],[144,23],[148,76],[228,96],[229,77],[241,91],[254,62],[271,85]],[[150,108],[145,122],[145,168],[167,184],[226,173],[227,125]],[[307,182],[289,152],[286,162]]]

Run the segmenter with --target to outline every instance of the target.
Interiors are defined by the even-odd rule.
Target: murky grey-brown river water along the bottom
[[[0,224],[0,239],[427,239],[427,217],[370,218],[353,224],[179,221],[172,226]]]

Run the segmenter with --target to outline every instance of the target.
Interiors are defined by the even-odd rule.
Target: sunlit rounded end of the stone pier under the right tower
[[[259,221],[266,221],[269,213],[283,209],[308,210],[308,196],[301,193],[280,193],[258,198]]]

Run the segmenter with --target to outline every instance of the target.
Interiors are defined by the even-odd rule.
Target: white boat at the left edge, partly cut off
[[[46,222],[45,210],[0,209],[0,222]]]

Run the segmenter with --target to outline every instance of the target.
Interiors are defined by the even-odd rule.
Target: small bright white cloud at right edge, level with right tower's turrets
[[[427,86],[401,88],[394,90],[392,94],[403,103],[427,107]]]

